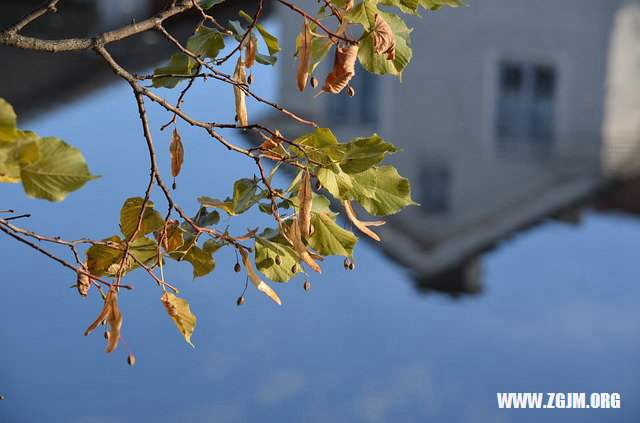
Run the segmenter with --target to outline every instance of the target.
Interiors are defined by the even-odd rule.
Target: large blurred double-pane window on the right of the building
[[[549,151],[556,88],[556,72],[551,66],[501,63],[495,122],[500,152]]]

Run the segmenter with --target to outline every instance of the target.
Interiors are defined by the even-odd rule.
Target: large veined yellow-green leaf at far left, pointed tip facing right
[[[62,201],[67,194],[98,176],[89,173],[82,153],[58,138],[42,138],[40,159],[22,166],[20,179],[30,197]]]

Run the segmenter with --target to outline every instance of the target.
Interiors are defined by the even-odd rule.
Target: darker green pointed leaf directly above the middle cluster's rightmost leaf
[[[369,138],[356,138],[346,145],[346,153],[340,162],[340,168],[346,173],[364,172],[384,159],[385,153],[401,151],[393,144],[385,142],[378,134]]]

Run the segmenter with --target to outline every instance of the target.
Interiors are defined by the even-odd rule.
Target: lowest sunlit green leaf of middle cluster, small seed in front
[[[275,262],[276,255],[280,256],[279,265]],[[296,275],[291,269],[294,264],[300,263],[300,258],[293,248],[256,236],[255,261],[258,270],[267,278],[275,282],[287,282]],[[299,271],[299,266],[297,268]]]

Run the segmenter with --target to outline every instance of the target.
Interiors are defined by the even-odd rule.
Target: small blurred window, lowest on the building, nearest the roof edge
[[[451,176],[445,162],[427,162],[420,170],[420,209],[426,213],[449,210]]]

